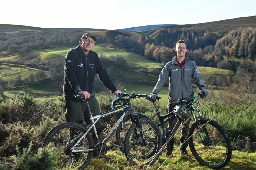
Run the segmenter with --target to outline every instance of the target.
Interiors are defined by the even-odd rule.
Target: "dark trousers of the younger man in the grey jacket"
[[[173,100],[169,100],[168,104],[167,104],[167,112],[170,113],[172,112],[173,108],[175,107],[175,105],[172,105],[172,102],[176,102]],[[181,129],[181,136],[180,136],[180,149],[181,150],[185,150],[188,147],[188,141],[187,141],[187,136],[188,136],[188,132],[189,132],[189,124],[190,124],[190,118],[186,119],[186,123],[184,121],[182,121],[181,125],[182,125],[182,129]],[[172,129],[174,128],[175,124],[177,123],[177,118],[172,119],[171,121],[168,122],[168,128],[169,131],[167,131],[166,136],[168,137],[171,132]],[[167,151],[172,151],[173,150],[173,145],[174,145],[174,137],[170,140],[169,143],[167,143],[166,149]]]

